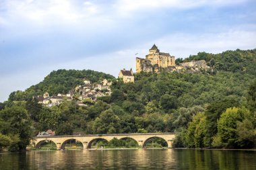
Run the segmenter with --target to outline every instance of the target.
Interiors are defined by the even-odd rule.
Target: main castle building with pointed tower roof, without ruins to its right
[[[174,56],[170,56],[169,53],[160,52],[155,44],[150,48],[150,54],[146,55],[146,58],[136,57],[136,73],[141,71],[157,73],[161,68],[172,66],[175,66]]]

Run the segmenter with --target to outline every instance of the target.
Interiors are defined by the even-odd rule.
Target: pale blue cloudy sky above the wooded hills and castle
[[[117,77],[156,44],[187,58],[256,48],[255,0],[0,0],[0,102],[57,69]]]

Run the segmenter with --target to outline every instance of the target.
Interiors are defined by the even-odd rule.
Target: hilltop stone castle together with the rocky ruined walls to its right
[[[175,65],[175,57],[170,56],[169,53],[160,52],[155,44],[150,48],[150,54],[146,55],[146,58],[136,57],[136,73],[159,73],[161,70],[195,73],[207,69],[210,69],[210,67],[207,66],[205,60],[183,62],[180,65]]]

